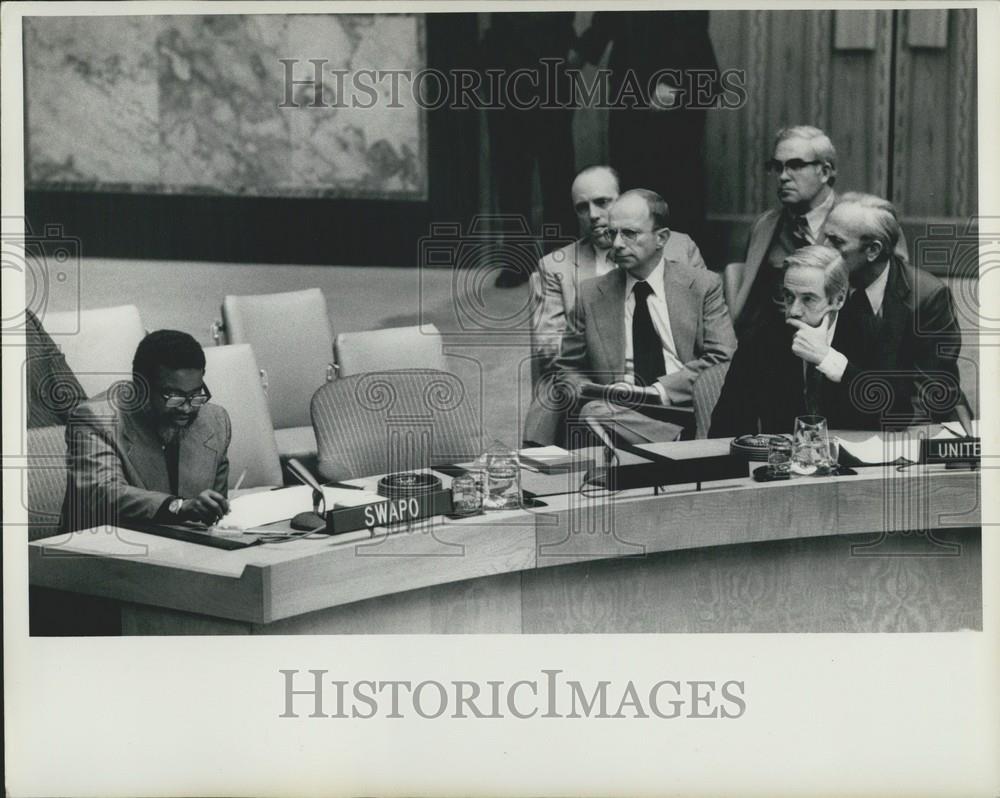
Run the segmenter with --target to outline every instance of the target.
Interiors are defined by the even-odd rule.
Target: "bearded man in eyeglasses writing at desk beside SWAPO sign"
[[[66,427],[63,528],[214,524],[229,511],[229,415],[208,404],[205,353],[190,335],[157,330],[132,361],[132,382],[80,405]]]

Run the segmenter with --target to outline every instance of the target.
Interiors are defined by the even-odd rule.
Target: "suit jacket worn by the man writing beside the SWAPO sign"
[[[218,405],[201,408],[181,439],[178,489],[192,498],[227,491],[232,429]],[[143,413],[107,399],[81,404],[66,427],[66,531],[104,524],[130,526],[154,519],[170,498],[163,448]]]

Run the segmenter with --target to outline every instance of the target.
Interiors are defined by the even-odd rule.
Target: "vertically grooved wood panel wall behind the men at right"
[[[709,115],[712,220],[774,204],[763,163],[799,123],[830,133],[839,190],[890,196],[910,223],[976,213],[974,10],[715,12],[711,34],[747,88],[744,107]]]

